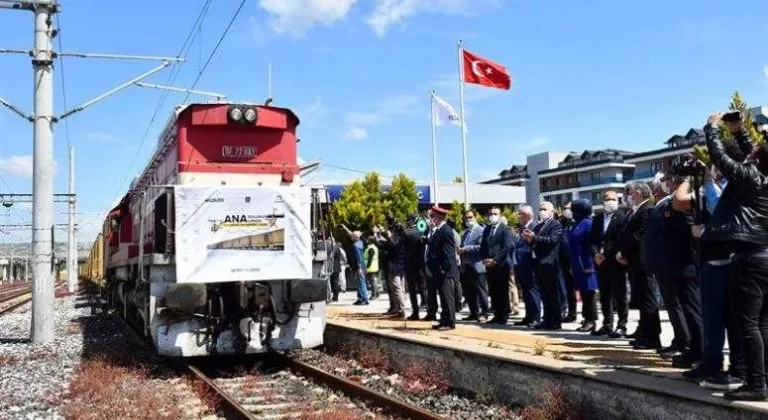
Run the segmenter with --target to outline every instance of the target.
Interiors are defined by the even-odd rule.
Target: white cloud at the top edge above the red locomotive
[[[344,20],[357,0],[259,0],[267,12],[272,30],[294,37],[314,26],[330,26]]]

